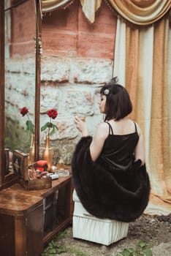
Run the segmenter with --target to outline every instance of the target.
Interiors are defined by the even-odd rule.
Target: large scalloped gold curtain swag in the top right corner
[[[171,7],[171,0],[107,0],[126,20],[138,25],[149,25],[162,18]]]

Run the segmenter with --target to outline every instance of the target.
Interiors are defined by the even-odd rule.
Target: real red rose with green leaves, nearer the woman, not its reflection
[[[46,113],[47,113],[47,116],[50,117],[50,121],[47,121],[47,123],[41,127],[41,132],[45,131],[45,129],[48,129],[47,136],[50,136],[58,131],[58,127],[56,126],[56,124],[52,123],[52,119],[55,119],[56,116],[58,116],[58,112],[56,109],[50,109],[50,110],[47,110]]]

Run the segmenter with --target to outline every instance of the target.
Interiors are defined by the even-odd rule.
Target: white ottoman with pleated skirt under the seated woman
[[[74,238],[110,245],[127,236],[129,223],[96,218],[89,214],[82,203],[80,203],[75,189],[72,197],[75,202],[72,220],[72,234]]]

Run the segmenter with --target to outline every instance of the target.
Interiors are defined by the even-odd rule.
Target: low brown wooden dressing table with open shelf
[[[26,191],[14,184],[0,192],[0,248],[5,256],[38,256],[43,245],[72,222],[71,175],[50,189]]]

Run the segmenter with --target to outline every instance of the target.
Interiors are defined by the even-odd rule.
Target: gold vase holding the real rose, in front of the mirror
[[[45,148],[43,148],[43,151],[42,151],[42,159],[47,161],[47,170],[49,171],[51,166],[53,165],[53,152],[52,152],[52,148],[50,147],[49,136],[46,136]]]

